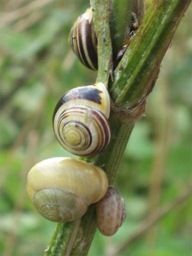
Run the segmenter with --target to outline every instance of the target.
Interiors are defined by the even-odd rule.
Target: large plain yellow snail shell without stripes
[[[100,200],[108,189],[105,172],[72,158],[49,158],[27,176],[27,193],[37,211],[56,222],[73,221]]]

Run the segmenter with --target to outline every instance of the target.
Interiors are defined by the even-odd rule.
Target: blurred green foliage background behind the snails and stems
[[[150,0],[147,1],[147,4]],[[26,175],[40,160],[70,156],[57,142],[52,113],[70,88],[94,83],[68,43],[88,0],[3,0],[0,22],[0,255],[43,255],[55,228],[26,195]],[[113,237],[98,231],[89,255],[111,256],[151,213],[192,183],[192,9],[182,18],[132,132],[115,185],[127,218]],[[192,255],[191,198],[119,255]]]

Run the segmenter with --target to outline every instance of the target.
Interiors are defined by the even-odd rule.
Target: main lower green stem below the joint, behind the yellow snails
[[[131,122],[122,122],[118,118],[117,113],[112,111],[109,122],[111,123],[111,134],[116,134],[116,136],[111,137],[108,147],[95,158],[81,159],[102,167],[108,175],[109,184],[112,184],[132,132],[134,120]],[[72,244],[69,244],[69,241],[71,236],[74,235],[73,230],[76,225],[76,221],[57,224],[46,256],[87,255],[96,231],[95,207],[93,205],[88,208],[88,211],[83,216],[72,246]],[[69,254],[66,254],[66,252],[69,252]]]

